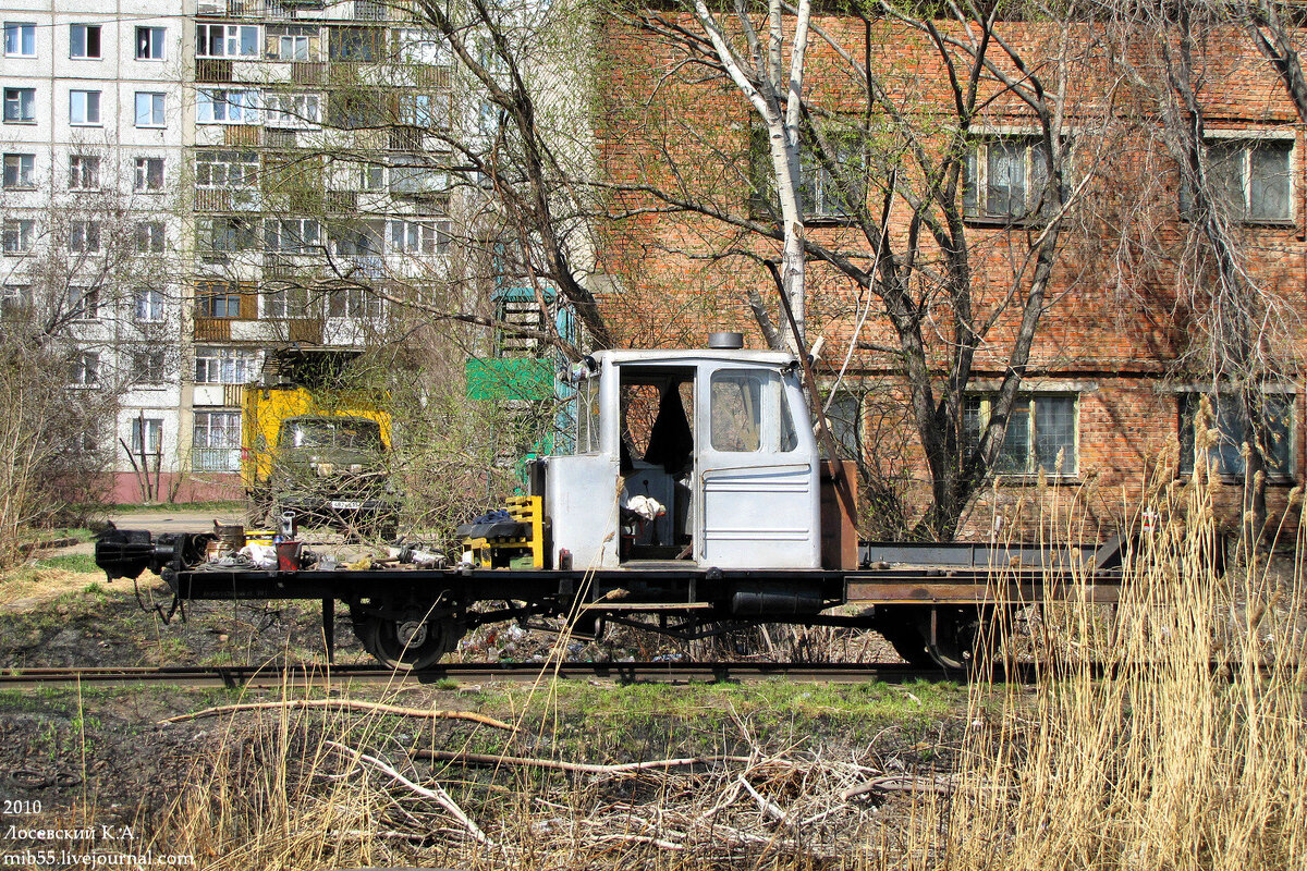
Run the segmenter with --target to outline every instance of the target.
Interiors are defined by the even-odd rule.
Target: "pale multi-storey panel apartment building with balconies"
[[[371,0],[7,4],[5,316],[120,396],[112,498],[239,492],[240,385],[447,270],[451,67]],[[323,129],[323,121],[328,121]],[[383,217],[384,215],[384,217]]]

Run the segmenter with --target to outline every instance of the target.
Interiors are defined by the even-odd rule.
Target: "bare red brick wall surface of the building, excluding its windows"
[[[687,17],[678,21],[695,29]],[[819,17],[816,24],[863,57],[860,22]],[[1084,149],[1074,170],[1077,178],[1091,175],[1086,208],[1064,230],[1050,306],[1031,358],[1038,381],[1084,388],[1078,402],[1080,471],[1055,492],[1031,482],[991,490],[968,512],[963,535],[988,535],[1000,516],[1006,528],[1017,525],[1029,535],[1039,524],[1040,507],[1047,513],[1056,503],[1065,513],[1070,501],[1086,509],[1084,516],[1094,526],[1086,533],[1095,535],[1134,512],[1159,465],[1167,458],[1174,464],[1178,398],[1167,387],[1167,376],[1193,338],[1179,290],[1188,277],[1176,266],[1183,261],[1183,242],[1191,229],[1179,217],[1174,158],[1151,124],[1155,101],[1148,89],[1134,87],[1119,76],[1112,55],[1119,43],[1112,42],[1112,34],[1081,26],[1061,40],[1061,34],[1039,24],[1010,24],[1002,33],[1039,64],[1050,81],[1055,78],[1052,59],[1060,50],[1067,52],[1068,129]],[[735,86],[703,65],[686,63],[680,47],[650,33],[609,24],[600,44],[599,74],[605,87],[597,136],[608,179],[656,185],[685,200],[712,204],[727,214],[748,215],[750,112]],[[1205,47],[1201,99],[1212,129],[1293,131],[1297,137],[1294,226],[1248,227],[1246,232],[1251,243],[1249,273],[1269,294],[1302,309],[1307,304],[1307,184],[1300,125],[1282,85],[1244,34],[1219,33]],[[1155,60],[1155,44],[1136,43],[1131,54],[1141,67],[1146,65]],[[868,57],[924,128],[949,121],[945,69],[920,34],[876,22]],[[1006,68],[1012,69],[1010,63]],[[812,99],[835,112],[861,111],[856,82],[844,71],[846,64],[830,47],[814,39],[806,72]],[[993,99],[984,111],[985,124],[1010,128],[1029,123],[1030,115],[1018,101],[993,87],[989,94]],[[870,196],[877,197],[874,192]],[[702,215],[647,210],[655,205],[656,200],[639,192],[617,193],[614,212],[625,209],[629,217],[604,227],[600,269],[613,278],[614,290],[601,302],[620,343],[693,346],[702,345],[712,329],[738,329],[749,336],[752,346],[761,347],[745,293],[755,287],[771,302],[775,290],[761,265],[732,252],[779,260],[779,243]],[[908,218],[904,202],[897,201],[890,232],[898,245],[906,238]],[[827,244],[843,240],[855,257],[869,260],[872,245],[850,227],[816,226],[808,232]],[[1027,232],[1038,229],[968,229],[982,317],[1000,311],[1013,289],[1018,296],[1023,291],[1025,285],[1014,281],[1014,270],[1029,251]],[[932,255],[929,248],[925,255]],[[852,338],[863,294],[853,282],[819,264],[809,266],[808,281],[809,341],[825,336],[826,364],[838,367]],[[945,303],[937,302],[932,311],[938,317],[938,332],[946,333]],[[774,316],[779,319],[775,309]],[[1010,306],[997,315],[989,342],[976,358],[976,379],[992,380],[1005,370],[1019,307]],[[895,343],[874,312],[857,338],[863,345]],[[1300,346],[1300,336],[1293,343]],[[938,342],[933,359],[944,360],[946,350],[946,342]],[[925,504],[928,478],[908,417],[893,393],[893,371],[891,355],[868,349],[853,355],[852,376],[886,384],[893,397],[870,404],[865,428],[868,440],[876,440],[872,465],[878,464],[886,479],[895,482],[912,513]],[[1297,370],[1287,375],[1298,381]],[[1300,396],[1294,428],[1300,475]],[[1166,479],[1174,481],[1174,473]],[[1221,484],[1218,490],[1223,513],[1233,522],[1239,513],[1240,488]],[[1270,486],[1273,515],[1282,511],[1287,490],[1287,484]]]

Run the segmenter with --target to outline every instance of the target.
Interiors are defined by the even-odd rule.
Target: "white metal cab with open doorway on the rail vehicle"
[[[818,451],[792,355],[597,351],[570,380],[574,452],[542,461],[554,567],[821,568]]]

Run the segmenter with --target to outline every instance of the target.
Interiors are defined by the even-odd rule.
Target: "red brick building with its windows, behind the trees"
[[[887,170],[897,167],[889,247],[940,262],[929,229],[918,227],[924,244],[914,248],[908,238],[914,212],[904,191],[920,189],[924,172],[920,161],[902,158],[911,158],[915,145],[941,148],[959,123],[944,54],[924,29],[906,24],[821,14],[813,24],[819,38],[809,48],[805,94],[814,118],[833,127],[861,119],[850,127],[864,138],[852,140],[847,157],[867,162],[859,195],[878,212]],[[963,35],[948,22],[938,27]],[[995,50],[996,69],[1014,73],[1019,56],[1031,74],[1065,94],[1056,136],[1068,142],[1064,188],[1072,205],[999,457],[1001,486],[982,491],[963,516],[962,535],[984,538],[1013,524],[1029,534],[1040,516],[1065,520],[1070,504],[1086,507],[1093,526],[1077,534],[1102,534],[1137,511],[1145,488],[1188,481],[1195,411],[1216,383],[1201,364],[1206,349],[1197,311],[1212,293],[1210,276],[1176,159],[1184,119],[1167,116],[1174,94],[1155,39],[1087,24],[1008,22],[996,31],[1012,50]],[[761,346],[748,293],[765,289],[779,319],[772,278],[758,259],[778,260],[780,243],[748,226],[770,219],[757,209],[766,195],[758,182],[757,115],[716,65],[711,46],[691,44],[684,33],[698,33],[693,17],[659,10],[604,33],[606,90],[597,127],[608,180],[623,188],[614,209],[621,219],[605,226],[601,245],[601,268],[617,289],[605,299],[635,346],[698,343],[710,329],[742,329]],[[1273,441],[1268,508],[1278,518],[1304,467],[1302,333],[1291,313],[1302,311],[1307,279],[1307,141],[1283,84],[1243,31],[1212,30],[1196,44],[1191,72],[1205,121],[1204,167],[1218,188],[1242,269],[1259,294],[1274,300],[1263,312],[1272,321],[1264,341],[1276,346],[1278,368],[1263,379],[1261,390]],[[950,46],[949,55],[957,64],[963,51]],[[860,64],[889,91],[885,102],[869,104]],[[1030,201],[1040,183],[1038,119],[1012,87],[983,77],[991,81],[979,86],[968,119],[958,196],[971,299],[978,320],[993,323],[975,354],[968,426],[987,417],[1009,364],[1031,240],[1048,226]],[[906,120],[886,115],[890,101]],[[873,245],[853,226],[857,210],[848,208],[848,192],[816,159],[804,172],[808,238],[869,265]],[[925,330],[933,342],[928,358],[942,379],[949,300],[927,286],[928,278],[921,282],[923,317],[937,320]],[[911,524],[928,500],[929,482],[884,303],[819,260],[809,264],[808,287],[808,338],[823,338],[827,385],[850,355],[831,404],[840,435],[865,460],[864,483],[878,484],[890,513],[902,504],[899,513]],[[1214,407],[1223,443],[1210,458],[1218,503],[1233,521],[1243,495],[1238,444],[1246,424],[1227,394],[1216,397]],[[895,528],[894,518],[881,524],[872,531]],[[1295,524],[1291,516],[1289,525]]]

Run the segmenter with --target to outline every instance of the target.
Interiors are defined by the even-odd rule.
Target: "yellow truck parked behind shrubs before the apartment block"
[[[251,384],[240,419],[240,473],[252,524],[291,512],[303,525],[393,535],[399,499],[384,397]]]

